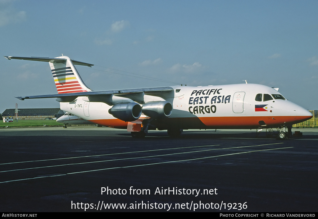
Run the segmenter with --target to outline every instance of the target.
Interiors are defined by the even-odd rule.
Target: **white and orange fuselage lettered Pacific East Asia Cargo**
[[[284,99],[277,90],[264,85],[172,88],[173,91],[160,97],[142,97],[144,103],[153,98],[172,104],[171,115],[157,123],[158,129],[274,128],[296,124],[312,116],[308,110]],[[125,102],[125,98],[118,98],[117,102]],[[117,119],[108,112],[112,106],[105,102],[88,102],[85,97],[78,97],[70,103],[60,103],[61,110],[94,124],[126,129],[129,122]],[[142,117],[145,116],[142,114]]]

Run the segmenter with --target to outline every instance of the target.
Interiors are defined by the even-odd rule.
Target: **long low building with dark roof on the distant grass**
[[[41,120],[59,118],[64,115],[64,111],[59,108],[41,108],[41,109],[18,109],[18,119]],[[15,109],[6,109],[2,113],[2,117],[15,116]]]

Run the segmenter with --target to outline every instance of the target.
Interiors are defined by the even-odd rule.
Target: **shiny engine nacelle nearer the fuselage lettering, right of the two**
[[[168,118],[172,113],[172,105],[168,101],[151,101],[142,105],[142,113],[155,119]]]

